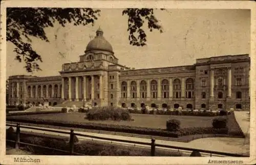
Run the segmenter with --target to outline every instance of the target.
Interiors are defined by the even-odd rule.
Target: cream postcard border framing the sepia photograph
[[[14,162],[15,155],[5,155],[5,103],[6,103],[6,8],[7,7],[90,7],[90,8],[169,8],[169,9],[251,9],[251,71],[250,71],[250,157],[110,157],[110,156],[44,156],[37,164],[207,164],[210,160],[243,160],[244,164],[255,161],[255,5],[253,1],[2,1],[1,2],[1,98],[0,99],[0,163],[30,164]],[[3,39],[2,39],[3,38]]]

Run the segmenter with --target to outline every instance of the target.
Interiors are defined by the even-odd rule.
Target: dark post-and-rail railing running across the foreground
[[[15,126],[15,124],[6,124],[6,126]],[[27,129],[34,129],[34,130],[41,130],[41,131],[46,131],[46,132],[55,132],[55,133],[62,133],[62,134],[70,134],[69,151],[20,142],[20,128],[27,128]],[[123,143],[129,143],[129,144],[151,146],[151,156],[155,156],[156,147],[161,147],[161,148],[168,148],[168,149],[177,149],[178,151],[185,150],[185,151],[197,151],[197,152],[201,152],[201,153],[207,153],[208,155],[210,155],[210,157],[213,154],[222,155],[222,156],[233,156],[233,157],[248,157],[248,156],[245,156],[242,154],[226,153],[226,152],[219,152],[219,151],[209,151],[209,150],[203,150],[203,149],[177,147],[177,146],[170,146],[170,145],[161,145],[161,144],[156,144],[155,139],[151,139],[151,143],[145,143],[145,142],[120,140],[120,139],[113,139],[113,138],[109,138],[109,137],[99,137],[99,136],[94,136],[94,135],[74,133],[73,129],[71,129],[70,132],[66,132],[66,131],[51,130],[51,129],[45,129],[45,128],[34,128],[34,127],[30,127],[30,126],[20,126],[19,123],[16,124],[16,139],[15,139],[15,141],[11,141],[11,140],[6,140],[6,141],[15,143],[16,149],[19,148],[20,144],[23,144],[23,145],[29,145],[29,146],[34,146],[34,147],[40,147],[40,148],[65,152],[65,153],[69,153],[70,155],[83,155],[81,153],[74,152],[74,136],[75,135],[82,136],[82,137],[90,137],[90,138],[100,139],[100,140],[107,140],[107,141],[111,141],[111,143],[112,143],[112,141],[114,141],[114,142],[123,142]]]

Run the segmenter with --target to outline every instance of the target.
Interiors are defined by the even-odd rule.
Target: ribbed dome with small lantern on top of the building
[[[109,41],[105,40],[105,38],[103,37],[103,31],[100,28],[96,31],[96,37],[91,40],[86,47],[86,51],[90,50],[103,50],[113,53],[113,48],[111,44],[109,43]]]

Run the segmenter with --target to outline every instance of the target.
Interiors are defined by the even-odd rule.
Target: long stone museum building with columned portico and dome
[[[68,102],[249,111],[249,54],[197,59],[196,64],[131,69],[118,64],[111,44],[98,29],[80,61],[62,65],[60,75],[9,77],[9,103],[47,99]]]

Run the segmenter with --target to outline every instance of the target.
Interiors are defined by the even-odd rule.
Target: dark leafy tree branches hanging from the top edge
[[[15,59],[19,62],[23,59],[27,72],[41,70],[38,62],[42,62],[42,57],[32,48],[31,36],[49,42],[45,28],[53,27],[55,22],[63,27],[67,23],[94,25],[99,13],[100,10],[91,8],[7,8],[6,40],[15,45]],[[150,31],[156,29],[162,33],[162,28],[154,16],[154,9],[125,9],[122,15],[128,16],[127,31],[130,32],[131,45],[146,44],[146,34],[142,29],[144,21],[147,21]]]

